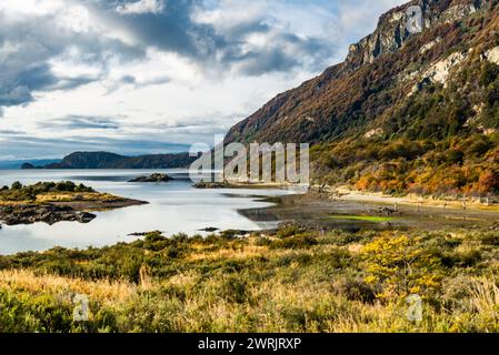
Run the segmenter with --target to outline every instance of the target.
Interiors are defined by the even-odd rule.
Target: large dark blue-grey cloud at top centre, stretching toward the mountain
[[[323,39],[300,38],[286,30],[273,34],[275,28],[262,18],[237,23],[219,33],[210,24],[193,22],[192,13],[202,1],[168,1],[161,13],[121,16],[118,21],[136,33],[142,43],[160,50],[173,51],[198,62],[211,64],[217,57],[221,68],[238,64],[241,74],[261,75],[268,72],[289,71],[310,64],[317,68],[332,57],[333,49]],[[109,11],[109,7],[108,7]],[[246,52],[243,47],[250,34],[268,37],[265,49]]]

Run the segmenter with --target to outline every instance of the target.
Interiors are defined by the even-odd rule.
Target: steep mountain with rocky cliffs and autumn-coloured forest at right
[[[409,33],[407,9],[423,29]],[[278,94],[226,143],[310,143],[315,183],[388,193],[499,194],[497,0],[410,1],[342,63]]]

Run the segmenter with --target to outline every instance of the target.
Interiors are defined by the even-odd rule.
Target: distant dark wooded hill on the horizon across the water
[[[188,153],[124,156],[108,152],[76,152],[60,162],[46,164],[42,169],[172,169],[187,168],[196,159]],[[33,168],[33,164],[22,166]]]

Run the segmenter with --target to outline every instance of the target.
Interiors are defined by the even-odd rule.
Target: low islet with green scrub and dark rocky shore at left
[[[113,210],[147,202],[100,193],[83,184],[70,181],[39,182],[23,186],[0,189],[0,221],[7,225],[62,221],[89,223],[94,220],[93,211]]]

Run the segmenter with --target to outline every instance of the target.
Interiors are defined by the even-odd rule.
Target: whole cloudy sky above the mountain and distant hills
[[[0,160],[213,140],[405,0],[0,0]]]

